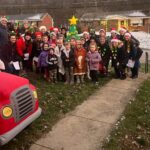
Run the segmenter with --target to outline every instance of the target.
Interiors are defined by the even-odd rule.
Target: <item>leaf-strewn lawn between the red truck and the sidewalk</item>
[[[52,85],[35,74],[30,74],[29,79],[37,87],[39,104],[43,110],[42,115],[10,143],[3,146],[2,150],[28,150],[30,145],[44,133],[49,132],[59,119],[85,101],[111,77],[100,78],[99,86],[94,85],[91,81],[84,85],[70,86],[64,83]]]

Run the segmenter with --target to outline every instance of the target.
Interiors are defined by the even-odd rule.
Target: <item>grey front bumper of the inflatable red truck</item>
[[[0,135],[0,146],[8,143],[11,139],[13,139],[19,132],[21,132],[24,128],[26,128],[29,124],[31,124],[35,119],[37,119],[41,115],[42,109],[38,108],[36,112],[26,118],[23,122],[17,125],[15,128],[6,132],[3,135]]]

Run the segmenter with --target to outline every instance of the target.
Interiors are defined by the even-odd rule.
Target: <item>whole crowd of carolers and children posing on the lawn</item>
[[[91,79],[98,83],[100,74],[109,75],[109,66],[114,68],[115,78],[138,77],[142,50],[139,41],[124,27],[117,32],[111,29],[110,36],[104,29],[99,35],[84,31],[80,39],[71,37],[66,41],[67,29],[47,29],[41,26],[29,32],[25,23],[22,28],[7,26],[7,19],[0,19],[0,67],[1,71],[19,75],[35,71],[50,83],[84,83]],[[2,65],[3,63],[3,65]]]

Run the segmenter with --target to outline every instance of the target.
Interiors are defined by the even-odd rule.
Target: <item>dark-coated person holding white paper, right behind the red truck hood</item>
[[[17,47],[16,47],[16,34],[15,32],[11,32],[9,35],[9,41],[7,44],[1,47],[1,56],[0,59],[5,64],[5,72],[19,75],[20,70],[20,60],[21,58],[18,55]],[[16,64],[18,67],[16,68],[14,65]]]

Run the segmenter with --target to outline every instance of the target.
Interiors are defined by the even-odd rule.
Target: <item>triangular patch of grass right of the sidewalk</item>
[[[103,150],[150,150],[150,78],[129,102]]]

